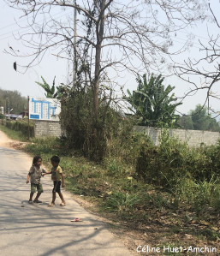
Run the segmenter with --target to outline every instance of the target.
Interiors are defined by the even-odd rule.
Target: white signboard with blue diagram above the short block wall
[[[29,98],[29,118],[59,121],[61,104],[56,98]]]

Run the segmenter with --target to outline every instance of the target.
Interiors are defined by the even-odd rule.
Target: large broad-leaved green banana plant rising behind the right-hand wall
[[[128,103],[132,105],[132,111],[139,118],[139,124],[152,127],[176,127],[178,116],[175,109],[181,103],[176,101],[173,91],[174,86],[163,85],[162,74],[152,74],[147,82],[146,74],[137,78],[138,88],[133,94],[128,90]]]

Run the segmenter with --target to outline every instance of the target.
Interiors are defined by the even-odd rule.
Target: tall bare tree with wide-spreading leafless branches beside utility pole
[[[38,64],[46,51],[72,62],[75,51],[76,74],[80,75],[80,69],[84,71],[80,83],[92,86],[95,116],[101,82],[107,83],[113,76],[116,79],[124,70],[149,75],[153,70],[163,72],[170,64],[167,57],[187,47],[170,51],[172,38],[204,20],[207,9],[205,0],[4,1],[27,16],[28,30],[24,29],[18,38],[30,50],[31,61],[24,68]],[[78,12],[77,33],[74,9]],[[20,52],[10,53],[18,56]]]

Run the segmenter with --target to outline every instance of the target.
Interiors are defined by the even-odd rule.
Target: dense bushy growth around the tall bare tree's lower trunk
[[[93,112],[92,90],[79,88],[62,98],[61,120],[70,148],[100,161],[107,154],[107,144],[115,137],[123,122],[122,116],[100,100],[98,116]]]

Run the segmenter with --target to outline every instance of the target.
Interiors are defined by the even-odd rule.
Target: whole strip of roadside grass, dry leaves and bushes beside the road
[[[158,247],[193,242],[219,252],[220,142],[189,149],[165,130],[160,146],[153,146],[145,135],[128,128],[124,144],[111,140],[108,156],[98,162],[70,149],[65,138],[27,141],[3,125],[1,130],[25,140],[23,150],[40,154],[48,168],[51,156],[59,155],[68,191],[92,202],[92,211],[113,220],[114,229],[122,223]]]

